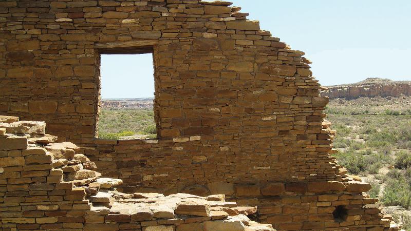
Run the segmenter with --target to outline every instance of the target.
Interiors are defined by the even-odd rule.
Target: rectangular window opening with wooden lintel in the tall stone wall
[[[153,50],[108,49],[99,50],[99,54],[98,138],[156,139]]]

